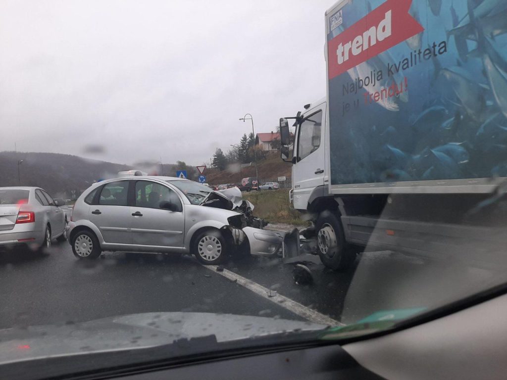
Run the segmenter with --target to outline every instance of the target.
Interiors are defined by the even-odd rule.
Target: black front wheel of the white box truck
[[[334,271],[347,269],[354,261],[355,253],[345,242],[340,219],[331,211],[322,211],[315,223],[315,232],[322,263]]]

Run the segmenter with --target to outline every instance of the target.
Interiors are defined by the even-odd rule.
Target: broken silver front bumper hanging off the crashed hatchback
[[[243,243],[245,238],[247,239],[251,255],[271,256],[281,250],[285,233],[244,227],[241,230],[233,229],[232,235],[237,245]]]

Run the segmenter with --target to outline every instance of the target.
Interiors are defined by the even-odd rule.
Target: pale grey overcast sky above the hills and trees
[[[0,150],[209,162],[325,95],[333,3],[1,0]]]

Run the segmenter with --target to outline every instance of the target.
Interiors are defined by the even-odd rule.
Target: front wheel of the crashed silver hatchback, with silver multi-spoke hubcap
[[[194,240],[192,253],[201,264],[216,265],[224,262],[227,248],[227,242],[220,231],[206,230]]]

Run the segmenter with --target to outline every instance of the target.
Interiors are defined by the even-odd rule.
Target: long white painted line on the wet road
[[[279,305],[282,308],[287,309],[288,311],[291,311],[294,314],[297,314],[310,322],[320,323],[329,326],[345,326],[344,323],[338,322],[333,318],[330,318],[315,310],[307,308],[306,306],[301,305],[301,303],[296,302],[291,298],[287,298],[281,294],[278,294],[274,290],[265,288],[264,286],[258,284],[257,282],[248,280],[247,278],[240,276],[234,272],[231,272],[227,269],[224,269],[222,272],[217,272],[216,265],[203,265],[203,267],[209,269],[210,271],[213,271],[218,275],[224,276],[225,278],[231,281],[235,281],[237,284],[247,288],[248,290],[251,290],[256,294],[259,294],[261,297],[269,299],[271,302],[276,303],[276,305]]]

